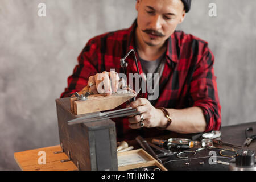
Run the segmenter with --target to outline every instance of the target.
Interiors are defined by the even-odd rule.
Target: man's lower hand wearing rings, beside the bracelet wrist
[[[167,123],[167,119],[164,117],[164,113],[160,109],[156,109],[151,105],[150,101],[146,98],[138,98],[136,101],[131,102],[126,107],[132,107],[137,109],[144,118],[144,127],[164,127]],[[140,115],[130,116],[129,118],[131,129],[138,129],[141,127]]]

